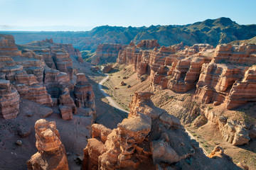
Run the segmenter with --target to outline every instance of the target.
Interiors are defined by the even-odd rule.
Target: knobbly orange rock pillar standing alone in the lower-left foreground
[[[27,161],[28,169],[68,169],[68,159],[55,122],[40,119],[35,123],[38,152]]]

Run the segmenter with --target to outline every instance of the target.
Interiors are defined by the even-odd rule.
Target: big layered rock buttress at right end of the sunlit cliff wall
[[[249,72],[253,74],[253,68],[249,69],[249,67],[256,63],[255,53],[256,45],[218,45],[213,60],[209,64],[203,64],[196,89],[198,101],[223,103],[225,98],[228,98],[228,109],[247,101],[255,101],[253,98],[256,96],[246,94],[246,91],[254,89],[253,84],[247,86],[248,89],[238,87],[244,85],[242,81],[247,81]],[[252,77],[249,79],[253,79]],[[240,98],[238,94],[246,97]]]

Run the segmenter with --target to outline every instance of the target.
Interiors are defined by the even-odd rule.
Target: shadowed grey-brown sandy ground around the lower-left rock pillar
[[[26,161],[35,154],[36,137],[34,125],[36,120],[41,118],[38,110],[44,108],[32,101],[22,100],[20,103],[20,113],[17,118],[0,120],[0,169],[27,169]],[[30,112],[31,117],[26,116]],[[70,169],[80,169],[73,159],[77,155],[82,155],[82,149],[87,145],[87,138],[90,137],[90,125],[92,118],[73,115],[73,120],[63,120],[58,108],[53,108],[53,113],[45,118],[48,121],[55,121],[60,138],[65,145],[66,152],[69,153],[68,163]],[[18,135],[18,128],[23,127],[31,131],[26,137]],[[75,140],[74,140],[75,139]],[[21,146],[16,145],[16,140],[21,140]],[[71,168],[72,167],[72,168]]]

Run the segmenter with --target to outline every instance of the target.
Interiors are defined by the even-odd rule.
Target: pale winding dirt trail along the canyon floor
[[[109,75],[105,74],[107,77],[105,77],[104,79],[102,79],[100,81],[100,83],[98,84],[98,87],[100,89],[100,91],[102,92],[102,94],[107,98],[107,100],[110,102],[110,105],[113,106],[114,108],[117,108],[119,111],[122,111],[124,113],[129,113],[129,111],[125,111],[121,106],[119,106],[119,104],[117,104],[109,94],[106,94],[106,92],[102,89],[102,84],[105,83],[105,81],[107,81],[107,79],[110,77]],[[186,132],[188,133],[188,135],[191,137],[191,140],[196,140],[196,137],[194,137],[190,132],[188,132],[188,130],[186,130]],[[196,140],[197,142],[197,140]],[[200,142],[198,142],[199,147],[201,147],[201,149],[203,149],[203,147],[201,146]],[[205,155],[208,155],[208,153],[206,152],[205,149],[203,149],[203,153]]]

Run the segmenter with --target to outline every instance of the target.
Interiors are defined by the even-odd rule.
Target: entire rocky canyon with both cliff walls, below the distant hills
[[[236,111],[255,109],[256,44],[138,36],[127,45],[84,44],[97,45],[91,61],[109,73],[101,84],[105,74],[72,44],[49,38],[16,45],[14,36],[1,34],[0,154],[6,157],[0,168],[247,169],[245,159],[233,162],[230,150],[217,144],[204,154],[188,131],[212,125],[228,146],[254,145],[255,114]]]

